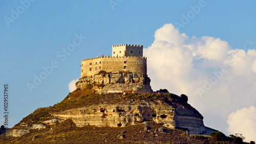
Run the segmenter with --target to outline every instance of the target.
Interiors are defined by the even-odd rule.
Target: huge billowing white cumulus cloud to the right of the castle
[[[189,37],[165,24],[143,53],[153,90],[186,94],[206,126],[227,133],[228,114],[256,103],[255,50],[234,49],[220,38]]]

